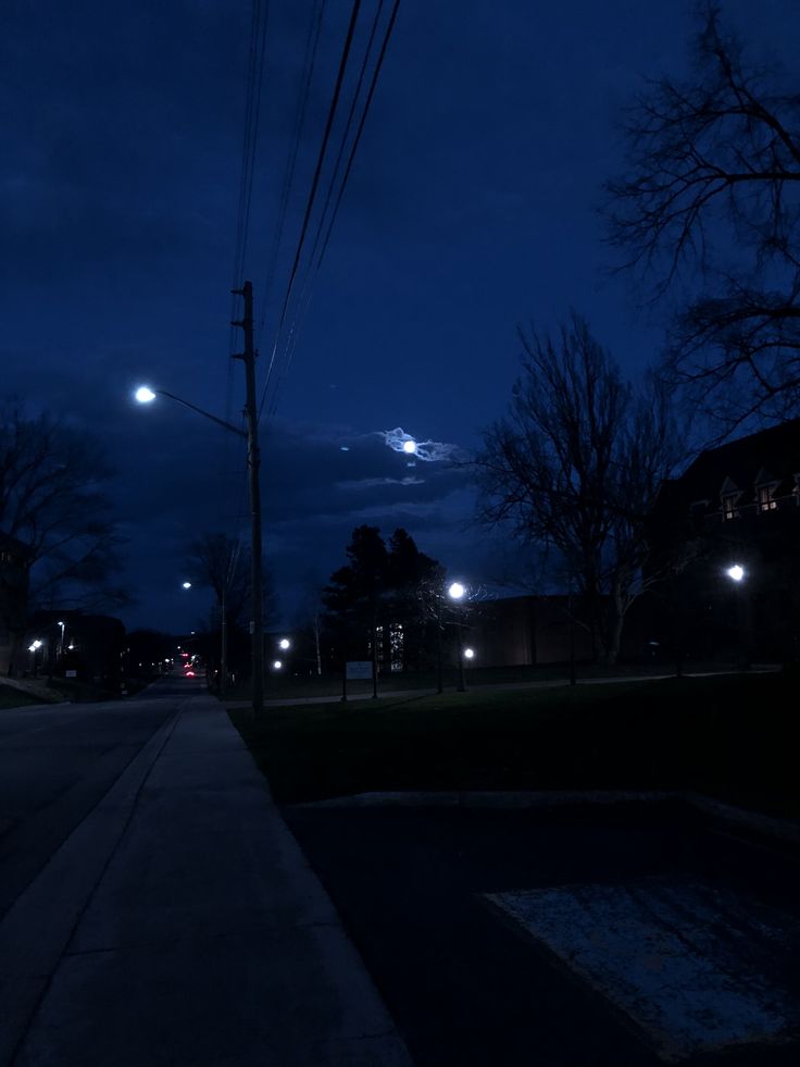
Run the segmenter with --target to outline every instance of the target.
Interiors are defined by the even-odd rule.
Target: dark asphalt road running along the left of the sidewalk
[[[97,806],[191,686],[126,702],[0,712],[0,918]]]

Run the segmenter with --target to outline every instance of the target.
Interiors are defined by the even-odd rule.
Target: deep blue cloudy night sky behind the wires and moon
[[[757,59],[792,62],[796,0],[722,7]],[[235,278],[251,5],[2,4],[1,392],[105,443],[130,629],[196,628],[210,597],[180,587],[189,542],[203,531],[249,538],[242,442],[132,394],[147,383],[239,423],[243,370],[230,352],[241,333],[228,322],[241,305],[229,290],[247,277],[262,395],[350,10],[325,5],[276,246],[317,8],[270,4]],[[345,114],[377,10],[362,4]],[[404,526],[452,576],[487,590],[509,573],[515,554],[474,524],[467,472],[448,457],[468,458],[503,413],[518,323],[552,328],[574,309],[629,374],[657,355],[660,325],[637,312],[629,280],[609,273],[597,209],[623,166],[624,108],[645,78],[686,70],[691,11],[684,0],[401,2],[311,299],[290,310],[266,392],[276,623],[296,621],[361,523],[387,538]],[[330,160],[341,129],[339,117]],[[445,458],[409,466],[387,446],[396,427]]]

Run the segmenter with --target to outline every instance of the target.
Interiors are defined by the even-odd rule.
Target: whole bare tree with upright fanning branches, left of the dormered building
[[[614,662],[625,613],[643,591],[647,516],[677,462],[668,397],[636,393],[577,315],[555,340],[521,331],[523,373],[509,414],[476,458],[479,518],[555,550]]]

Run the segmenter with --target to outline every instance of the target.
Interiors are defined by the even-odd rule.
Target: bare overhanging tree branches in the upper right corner
[[[800,92],[749,64],[716,3],[693,73],[652,83],[607,185],[610,237],[653,300],[674,298],[666,369],[729,433],[800,401]]]

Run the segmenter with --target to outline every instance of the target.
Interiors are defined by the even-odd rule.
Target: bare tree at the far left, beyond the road
[[[114,585],[121,539],[98,442],[49,414],[0,408],[0,530],[27,553],[30,603],[95,608],[128,599]]]

